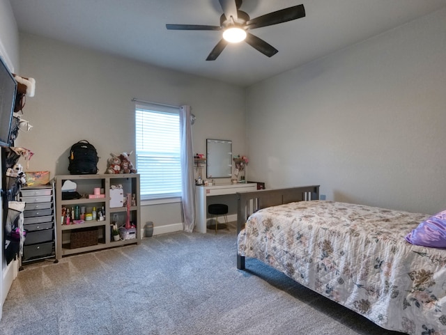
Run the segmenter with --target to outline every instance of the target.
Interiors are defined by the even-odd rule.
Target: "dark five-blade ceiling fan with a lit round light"
[[[166,28],[171,30],[223,31],[223,38],[217,45],[215,45],[206,61],[215,61],[229,42],[241,42],[243,40],[262,54],[268,57],[274,56],[278,52],[275,47],[272,47],[272,45],[269,45],[264,40],[261,40],[261,38],[258,38],[247,31],[249,29],[272,26],[273,24],[305,17],[304,5],[298,5],[261,15],[251,20],[247,13],[238,10],[240,6],[242,6],[242,0],[219,0],[219,2],[223,10],[223,14],[220,17],[220,26],[207,26],[202,24],[166,24]]]

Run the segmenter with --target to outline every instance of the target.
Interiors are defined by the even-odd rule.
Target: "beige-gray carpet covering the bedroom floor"
[[[1,335],[390,335],[259,261],[236,269],[236,233],[173,233],[26,265]]]

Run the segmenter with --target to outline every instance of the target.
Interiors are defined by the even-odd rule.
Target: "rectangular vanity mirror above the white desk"
[[[206,140],[206,178],[231,178],[232,141]]]

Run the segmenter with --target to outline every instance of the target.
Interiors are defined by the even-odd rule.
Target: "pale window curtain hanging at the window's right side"
[[[183,229],[192,233],[195,226],[194,151],[192,148],[192,115],[190,106],[180,107],[181,146],[181,202],[183,204]]]

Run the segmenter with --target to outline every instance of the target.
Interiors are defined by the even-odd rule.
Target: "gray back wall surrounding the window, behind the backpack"
[[[36,79],[36,96],[24,108],[33,129],[17,141],[35,153],[28,171],[68,174],[70,146],[86,139],[98,149],[104,173],[110,153],[134,150],[134,97],[189,104],[197,116],[197,153],[205,153],[206,138],[231,139],[233,150],[245,152],[243,88],[28,34],[20,35],[20,68]],[[144,206],[146,221],[155,228],[181,223],[179,203]]]

